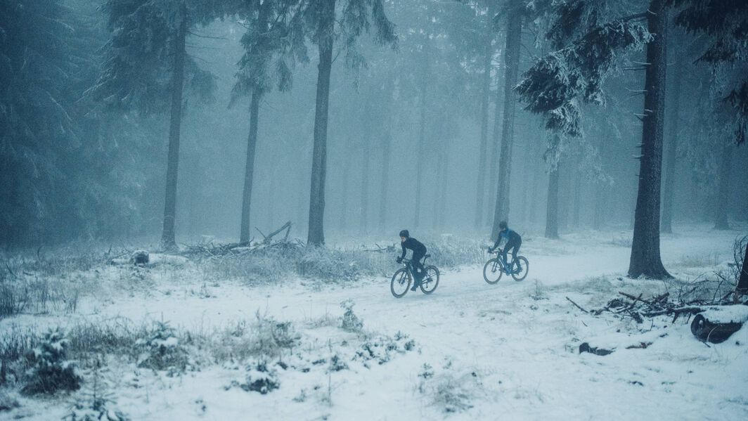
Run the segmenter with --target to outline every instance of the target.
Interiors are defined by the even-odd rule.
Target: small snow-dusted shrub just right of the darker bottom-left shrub
[[[141,352],[139,367],[184,372],[188,366],[188,352],[168,322],[156,322],[154,328],[147,331],[146,337],[135,341],[135,346]]]

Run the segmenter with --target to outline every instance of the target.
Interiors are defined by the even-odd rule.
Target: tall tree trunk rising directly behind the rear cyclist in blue
[[[514,114],[517,99],[512,89],[517,84],[519,73],[519,52],[522,37],[521,1],[512,0],[507,13],[506,28],[506,76],[504,76],[504,109],[501,126],[501,154],[496,190],[496,208],[494,210],[494,227],[491,238],[499,235],[499,222],[509,218],[509,176],[512,173],[512,143],[514,137]]]

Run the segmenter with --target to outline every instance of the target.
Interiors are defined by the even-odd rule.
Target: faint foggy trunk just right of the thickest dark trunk
[[[667,156],[665,166],[665,183],[662,198],[662,224],[660,231],[672,233],[672,200],[675,195],[675,163],[678,152],[678,114],[681,108],[681,58],[675,61],[675,71],[672,73],[672,105],[670,106],[668,124]]]

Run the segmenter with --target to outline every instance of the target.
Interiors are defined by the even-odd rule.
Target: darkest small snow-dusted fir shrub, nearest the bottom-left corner
[[[28,382],[22,393],[36,395],[52,394],[58,390],[78,390],[81,378],[76,368],[67,360],[68,342],[60,328],[50,330],[38,345],[28,353],[31,369],[26,373]]]

